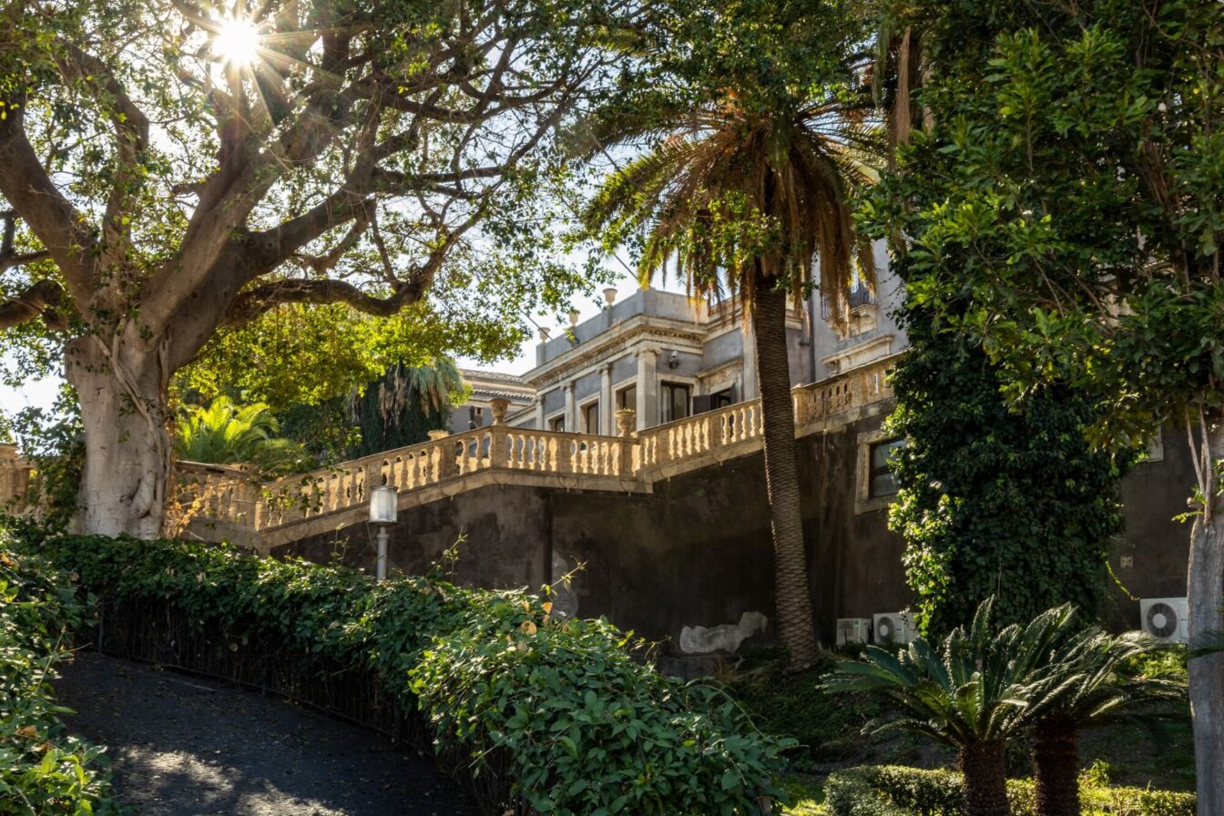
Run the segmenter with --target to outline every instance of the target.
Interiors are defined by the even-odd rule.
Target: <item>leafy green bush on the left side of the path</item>
[[[66,734],[49,685],[81,612],[62,576],[0,540],[0,814],[118,812],[102,750]]]

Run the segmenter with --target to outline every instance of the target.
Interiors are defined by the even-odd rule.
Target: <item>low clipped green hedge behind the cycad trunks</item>
[[[1081,789],[1084,816],[1195,816],[1195,795],[1144,788]],[[838,771],[825,782],[831,816],[962,816],[960,773],[903,766],[863,766]],[[1033,783],[1009,779],[1013,816],[1037,816]]]

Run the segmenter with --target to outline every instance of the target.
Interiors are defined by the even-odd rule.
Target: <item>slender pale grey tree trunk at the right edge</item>
[[[1211,456],[1224,454],[1224,418],[1209,431]],[[1190,642],[1224,631],[1224,508],[1195,520],[1190,540]],[[1198,812],[1224,814],[1224,653],[1190,661],[1190,711],[1195,724]]]

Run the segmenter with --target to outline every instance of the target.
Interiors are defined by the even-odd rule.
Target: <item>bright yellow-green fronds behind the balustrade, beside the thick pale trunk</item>
[[[280,426],[263,402],[236,405],[218,396],[207,406],[188,406],[180,415],[174,453],[177,459],[214,465],[255,464],[264,473],[308,467],[301,445],[277,437]]]

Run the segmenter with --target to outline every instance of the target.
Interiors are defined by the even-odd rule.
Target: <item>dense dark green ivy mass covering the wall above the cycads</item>
[[[906,445],[889,525],[906,538],[922,630],[947,632],[989,596],[1004,623],[1067,602],[1098,609],[1131,455],[1089,445],[1097,411],[1084,394],[1051,387],[1011,406],[979,347],[934,330],[927,310],[902,317],[911,349],[887,427]]]

